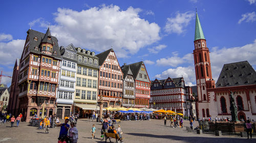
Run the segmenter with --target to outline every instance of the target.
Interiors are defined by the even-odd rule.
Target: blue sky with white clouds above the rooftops
[[[215,80],[223,64],[247,60],[255,69],[255,0],[166,0],[1,2],[0,70],[11,76],[29,27],[45,33],[50,23],[61,46],[99,53],[113,45],[120,66],[143,59],[151,79],[183,76],[194,85],[196,8]]]

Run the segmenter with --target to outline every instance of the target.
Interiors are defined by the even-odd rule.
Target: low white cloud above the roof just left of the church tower
[[[185,85],[195,85],[194,82],[196,81],[196,75],[195,68],[193,66],[177,67],[175,69],[171,68],[163,71],[161,74],[156,75],[158,79],[166,79],[168,76],[170,78],[177,78],[183,76]]]

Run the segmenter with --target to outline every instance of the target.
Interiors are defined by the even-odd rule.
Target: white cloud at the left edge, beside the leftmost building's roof
[[[12,40],[10,42],[0,42],[1,65],[13,64],[16,58],[20,58],[24,48],[25,40]]]

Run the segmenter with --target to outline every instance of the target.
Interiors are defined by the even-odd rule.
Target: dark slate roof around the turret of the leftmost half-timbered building
[[[37,53],[37,54],[45,54],[45,53],[41,53],[41,51],[40,51],[41,50],[40,49],[41,42],[42,42],[42,39],[45,37],[45,34],[34,31],[34,30],[28,30],[27,33],[29,34],[29,44],[30,44],[29,49],[30,49],[30,51]],[[37,37],[37,41],[34,40],[35,37]],[[53,58],[57,58],[57,59],[61,60],[58,40],[54,36],[51,36],[51,40],[52,40],[52,42],[55,43],[52,51],[53,52],[56,51],[56,55],[54,55],[54,54],[52,54],[52,55],[45,54],[45,55],[52,56]],[[38,47],[38,51],[35,50],[35,47]]]

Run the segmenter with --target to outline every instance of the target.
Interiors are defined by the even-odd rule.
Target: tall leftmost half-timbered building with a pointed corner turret
[[[34,114],[53,115],[60,71],[58,40],[46,34],[28,30],[19,69],[19,108],[28,122]],[[43,110],[44,108],[44,110]]]

